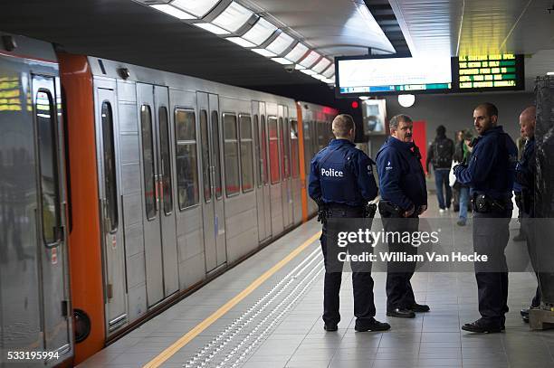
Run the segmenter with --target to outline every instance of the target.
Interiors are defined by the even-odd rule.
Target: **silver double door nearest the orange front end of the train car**
[[[167,87],[137,83],[148,307],[178,289]]]

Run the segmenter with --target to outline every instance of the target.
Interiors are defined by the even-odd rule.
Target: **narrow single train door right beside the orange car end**
[[[98,159],[100,229],[104,258],[106,330],[127,322],[125,251],[119,201],[118,113],[115,82],[101,80],[96,89],[96,152]]]

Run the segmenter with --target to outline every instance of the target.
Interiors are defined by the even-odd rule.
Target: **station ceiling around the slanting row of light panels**
[[[554,0],[238,1],[330,57],[368,48],[414,55],[516,52],[528,56],[529,81],[554,71],[554,11],[547,11]],[[389,45],[369,29],[358,5],[368,6]],[[67,52],[260,90],[279,86],[291,97],[287,86],[332,95],[319,80],[131,0],[3,1],[0,29],[55,42]]]

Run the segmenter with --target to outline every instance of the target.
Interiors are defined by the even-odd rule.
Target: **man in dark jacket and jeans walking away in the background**
[[[450,208],[452,200],[452,188],[448,184],[448,175],[452,167],[452,158],[454,156],[454,141],[446,137],[446,128],[439,126],[436,128],[436,137],[431,146],[429,146],[429,155],[425,161],[425,171],[429,175],[429,163],[433,163],[435,170],[436,196],[439,203],[439,212],[443,213]],[[446,199],[444,200],[444,192]]]

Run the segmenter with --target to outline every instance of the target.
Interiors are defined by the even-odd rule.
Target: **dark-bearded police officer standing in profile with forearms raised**
[[[508,312],[504,250],[510,238],[511,190],[518,150],[497,122],[498,109],[492,103],[474,109],[473,125],[480,137],[473,144],[469,165],[454,166],[456,179],[470,186],[473,250],[488,258],[474,264],[481,318],[462,326],[475,333],[501,332]]]

